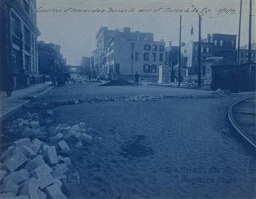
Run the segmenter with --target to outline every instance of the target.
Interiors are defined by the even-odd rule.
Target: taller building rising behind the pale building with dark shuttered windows
[[[122,30],[108,30],[108,27],[100,27],[96,34],[96,49],[93,51],[94,67],[99,73],[104,72],[104,51],[111,39],[119,41],[153,41],[153,33],[131,32],[131,27],[124,27]]]

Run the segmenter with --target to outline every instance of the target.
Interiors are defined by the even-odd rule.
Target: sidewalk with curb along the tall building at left
[[[34,84],[21,90],[14,90],[10,98],[7,98],[6,92],[0,91],[0,121],[9,118],[13,113],[19,111],[24,104],[29,103],[52,88],[49,82]]]

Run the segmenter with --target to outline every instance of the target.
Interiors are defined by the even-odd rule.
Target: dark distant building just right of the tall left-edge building
[[[54,75],[66,65],[59,45],[45,43],[45,41],[38,41],[37,45],[40,75]]]

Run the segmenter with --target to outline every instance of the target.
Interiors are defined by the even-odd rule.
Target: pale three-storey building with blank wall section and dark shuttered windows
[[[157,76],[157,67],[165,64],[164,41],[112,39],[104,51],[103,73]]]

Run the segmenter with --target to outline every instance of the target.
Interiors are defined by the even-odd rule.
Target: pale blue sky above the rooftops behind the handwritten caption
[[[109,29],[121,29],[131,27],[132,30],[154,33],[154,40],[164,39],[166,44],[179,41],[179,17],[180,13],[168,12],[171,9],[189,9],[190,13],[183,12],[182,40],[191,40],[190,30],[194,27],[195,38],[198,33],[197,13],[191,12],[194,7],[197,10],[211,9],[203,15],[202,35],[207,33],[237,34],[240,0],[209,1],[209,0],[180,0],[180,1],[87,1],[87,0],[38,0],[37,19],[41,31],[39,40],[53,42],[62,47],[62,53],[68,60],[68,64],[77,65],[82,55],[92,55],[95,48],[95,36],[99,27],[106,26]],[[107,12],[110,7],[114,9],[135,9],[134,12],[120,13]],[[78,10],[105,10],[103,13],[76,13]],[[226,13],[226,10],[230,12]],[[145,9],[149,12],[139,13]],[[151,10],[150,10],[151,9]],[[223,12],[218,14],[220,9]],[[44,12],[42,12],[44,10]],[[52,12],[45,12],[50,10]],[[59,10],[60,13],[56,12]],[[65,12],[66,10],[66,12]],[[158,10],[154,12],[154,10]],[[249,24],[249,0],[243,0],[243,21],[241,32],[241,44],[248,43]],[[253,4],[255,10],[255,4]],[[253,16],[252,41],[255,41],[255,16]]]

